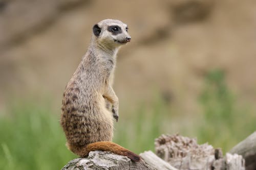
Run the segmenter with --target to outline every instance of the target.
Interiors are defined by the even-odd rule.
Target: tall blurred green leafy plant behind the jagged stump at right
[[[209,141],[224,152],[256,130],[255,118],[248,106],[238,103],[225,82],[221,69],[210,70],[199,97],[203,122],[198,129],[199,142]]]

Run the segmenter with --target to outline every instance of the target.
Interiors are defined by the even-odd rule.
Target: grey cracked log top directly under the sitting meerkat
[[[87,158],[77,158],[70,161],[61,170],[93,170],[93,169],[111,169],[111,170],[155,170],[147,165],[143,160],[132,162],[125,156],[115,155],[110,152],[93,151]]]

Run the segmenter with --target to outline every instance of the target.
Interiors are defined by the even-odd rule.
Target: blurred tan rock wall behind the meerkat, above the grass
[[[116,18],[127,23],[132,36],[118,54],[114,88],[120,112],[168,91],[172,95],[163,98],[174,112],[197,113],[204,72],[212,68],[225,70],[239,99],[253,102],[255,8],[250,0],[2,0],[0,101],[49,94],[59,108],[92,26]]]

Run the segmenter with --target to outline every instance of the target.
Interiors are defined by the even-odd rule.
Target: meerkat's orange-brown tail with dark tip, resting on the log
[[[73,145],[68,144],[68,147],[72,152],[79,155],[80,157],[88,156],[90,151],[100,150],[100,151],[110,151],[117,155],[127,156],[128,158],[130,158],[135,162],[140,160],[140,156],[136,155],[135,153],[111,141],[100,141],[100,142],[90,143],[82,148],[73,147]]]

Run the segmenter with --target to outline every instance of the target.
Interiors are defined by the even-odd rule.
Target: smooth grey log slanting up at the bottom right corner
[[[246,170],[256,169],[256,131],[238,143],[230,153],[242,155],[245,159]]]

